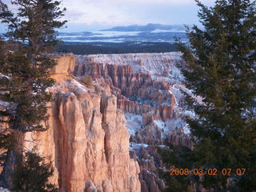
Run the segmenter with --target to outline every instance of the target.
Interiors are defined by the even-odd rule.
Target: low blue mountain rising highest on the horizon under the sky
[[[115,26],[113,28],[102,31],[153,31],[153,30],[185,30],[182,25],[161,25],[149,23],[146,26]]]

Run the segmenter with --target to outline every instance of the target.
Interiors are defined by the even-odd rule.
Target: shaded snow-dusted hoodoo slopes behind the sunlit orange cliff
[[[130,156],[138,159],[142,192],[159,192],[165,184],[158,177],[164,166],[154,145],[191,146],[184,121],[186,107],[180,53],[98,54],[76,56],[73,74],[90,75],[106,83],[118,98],[130,132]]]

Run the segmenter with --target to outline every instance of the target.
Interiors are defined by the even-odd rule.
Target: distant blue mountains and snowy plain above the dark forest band
[[[182,25],[147,24],[146,26],[116,26],[108,30],[58,33],[63,42],[187,42]]]

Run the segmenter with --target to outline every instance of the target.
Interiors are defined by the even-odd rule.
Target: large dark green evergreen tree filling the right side
[[[255,1],[218,0],[210,8],[196,2],[204,30],[194,26],[188,31],[190,46],[179,45],[186,61],[182,66],[184,83],[203,98],[200,104],[187,97],[188,106],[196,114],[187,119],[193,150],[172,146],[162,154],[168,157],[169,165],[179,168],[218,169],[218,175],[202,179],[173,178],[178,183],[189,179],[187,186],[202,184],[210,191],[255,191]],[[246,168],[246,173],[239,177],[234,177],[234,172],[222,175],[223,168]]]

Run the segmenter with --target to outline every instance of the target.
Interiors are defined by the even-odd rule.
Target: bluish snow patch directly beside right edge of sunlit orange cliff
[[[142,128],[142,115],[125,113],[126,128],[130,134],[136,134]]]

